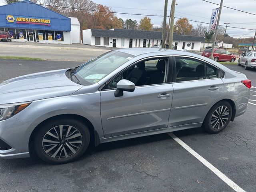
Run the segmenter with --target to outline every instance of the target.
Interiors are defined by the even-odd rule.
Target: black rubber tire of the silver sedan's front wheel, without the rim
[[[55,149],[53,149],[53,150],[57,151],[59,148],[62,147],[59,150],[59,152],[60,152],[59,157],[61,157],[61,155],[65,155],[66,156],[66,153],[70,154],[70,156],[62,157],[62,158],[58,158],[58,156],[56,156],[54,158],[54,157],[50,156],[50,154],[46,153],[47,150],[45,151],[44,148],[47,145],[47,142],[43,146],[43,144],[45,143],[45,142],[43,142],[43,139],[46,136],[49,137],[49,135],[46,134],[48,131],[50,131],[50,130],[52,130],[52,128],[56,128],[56,127],[58,127],[60,125],[63,125],[63,134],[62,134],[63,135],[63,139],[61,139],[60,143],[58,143],[58,144],[56,143],[58,146],[56,146]],[[67,133],[66,130],[68,129],[68,128],[65,129],[64,126],[71,126],[72,129],[74,128],[74,129],[78,130],[78,132],[76,132],[76,134],[80,133],[80,135],[81,135],[81,136],[79,136],[79,138],[81,138],[81,144],[78,144],[78,145],[80,145],[80,147],[78,148],[78,150],[75,153],[73,153],[71,150],[68,151],[68,146],[71,146],[71,147],[74,146],[74,145],[71,145],[69,143],[71,139],[70,140],[66,140],[65,142],[62,143],[62,141],[65,140],[64,139],[65,138],[64,137],[64,133],[66,134]],[[56,128],[56,130],[58,132],[58,128]],[[59,138],[59,133],[60,132],[58,132],[58,133],[57,132],[56,132],[56,134],[57,134],[57,136]],[[56,134],[55,134],[55,136],[56,136]],[[69,134],[67,134],[67,135],[69,135]],[[68,136],[68,137],[70,137],[70,136]],[[52,137],[51,140],[55,140],[54,142],[58,142],[57,139],[55,139],[53,137]],[[68,162],[72,162],[72,161],[76,160],[82,154],[84,154],[84,152],[88,148],[89,143],[90,143],[90,132],[89,132],[87,126],[84,125],[82,122],[80,122],[78,120],[74,120],[74,119],[61,119],[61,120],[53,120],[52,122],[48,122],[48,123],[46,123],[46,124],[44,124],[44,125],[42,125],[40,127],[40,130],[37,132],[37,134],[36,134],[36,136],[34,138],[34,148],[35,148],[35,152],[38,155],[38,157],[41,158],[42,160],[44,160],[44,161],[46,161],[48,163],[52,163],[52,164],[64,164],[64,163],[68,163]],[[54,144],[51,144],[51,146],[53,146],[53,145]],[[63,151],[63,148],[66,149],[65,153]],[[72,147],[72,148],[76,149],[75,147]],[[57,154],[58,154],[58,152],[57,152]]]

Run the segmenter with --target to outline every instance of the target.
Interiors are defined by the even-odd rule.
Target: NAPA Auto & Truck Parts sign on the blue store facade
[[[49,18],[34,18],[27,16],[16,16],[16,15],[6,15],[7,23],[16,24],[32,24],[32,25],[46,25],[51,26],[51,19]]]

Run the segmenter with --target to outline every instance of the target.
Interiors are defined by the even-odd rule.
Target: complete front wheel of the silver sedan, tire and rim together
[[[35,137],[35,151],[42,160],[63,164],[79,158],[90,142],[90,132],[80,121],[53,120],[40,127]]]

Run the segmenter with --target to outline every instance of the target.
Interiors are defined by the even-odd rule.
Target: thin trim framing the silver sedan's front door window
[[[127,70],[127,69],[130,68],[131,66],[136,65],[138,62],[141,62],[141,61],[147,60],[147,59],[151,59],[151,58],[162,58],[162,57],[168,57],[168,60],[169,60],[169,57],[172,57],[172,55],[150,56],[150,57],[146,57],[146,58],[142,58],[142,59],[140,59],[140,60],[137,60],[136,62],[130,64],[129,66],[127,66],[126,68],[124,68],[123,70],[121,70],[120,72],[118,72],[115,76],[113,76],[112,78],[110,78],[108,81],[106,81],[102,86],[100,86],[100,88],[98,88],[98,91],[116,90],[116,88],[104,89],[104,90],[102,90],[102,88],[104,88],[104,86],[105,86],[106,84],[108,84],[111,80],[113,80],[114,78],[116,78],[120,73],[122,73],[123,71]],[[166,68],[166,73],[167,73],[168,70],[169,70],[169,64],[168,64],[168,62],[166,62],[166,65],[167,65],[167,68]],[[166,79],[166,80],[167,80],[167,79]],[[154,84],[154,85],[162,85],[162,84],[171,84],[171,82],[170,82],[170,83]],[[135,87],[142,87],[142,86],[153,86],[153,85],[141,85],[141,86],[135,86]]]

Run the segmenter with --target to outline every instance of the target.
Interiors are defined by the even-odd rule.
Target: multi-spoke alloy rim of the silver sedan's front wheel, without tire
[[[52,158],[69,158],[78,152],[82,145],[81,133],[69,125],[51,128],[42,140],[44,152]]]

